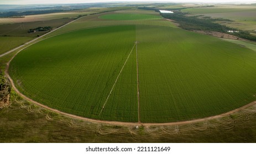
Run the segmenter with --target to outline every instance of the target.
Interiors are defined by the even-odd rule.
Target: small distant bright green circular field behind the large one
[[[106,20],[158,20],[163,19],[159,15],[135,14],[135,13],[116,13],[101,15],[100,19]]]

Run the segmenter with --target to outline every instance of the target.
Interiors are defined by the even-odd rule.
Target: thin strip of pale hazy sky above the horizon
[[[129,2],[149,2],[150,0],[128,0]],[[151,0],[152,1],[152,0]],[[92,3],[92,2],[127,2],[127,0],[0,0],[0,4],[61,4],[61,3]],[[204,3],[229,3],[229,2],[256,2],[256,0],[153,0],[152,2],[204,2]]]

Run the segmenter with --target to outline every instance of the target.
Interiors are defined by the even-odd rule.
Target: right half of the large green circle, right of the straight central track
[[[142,122],[208,117],[255,100],[255,52],[183,30],[138,29]]]

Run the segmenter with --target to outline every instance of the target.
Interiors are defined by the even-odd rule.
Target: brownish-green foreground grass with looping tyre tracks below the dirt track
[[[12,91],[0,110],[2,142],[255,142],[255,105],[205,122],[140,126],[90,123],[51,112]],[[28,133],[29,132],[29,133]]]

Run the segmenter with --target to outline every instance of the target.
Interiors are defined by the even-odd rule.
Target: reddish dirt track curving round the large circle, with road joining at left
[[[76,20],[77,20],[77,19],[76,19]],[[72,23],[72,22],[74,22],[74,21],[76,21],[76,20],[73,20],[73,21],[71,21],[70,23]],[[68,23],[68,24],[70,24],[70,23]],[[68,25],[68,24],[66,24],[66,25]],[[63,25],[63,26],[66,26],[66,25]],[[63,27],[63,26],[61,26],[61,27]],[[61,28],[61,27],[59,27],[59,28]],[[59,29],[59,28],[58,28],[58,29]],[[55,29],[55,30],[57,30],[57,29]],[[55,30],[54,30],[54,31],[55,31]],[[53,32],[53,31],[52,31],[52,32]],[[50,33],[50,32],[48,32],[47,34],[49,34],[49,33]],[[47,35],[47,34],[45,34],[45,35]],[[43,35],[43,36],[45,36],[45,35]],[[43,37],[43,36],[41,36],[41,37]],[[39,38],[39,37],[38,37],[38,38]],[[38,38],[36,38],[35,40],[38,40]],[[32,41],[30,41],[30,42],[33,42],[33,41],[35,41],[35,40],[32,40]],[[40,40],[40,41],[41,41],[41,40]],[[30,43],[30,42],[29,42],[29,43]],[[35,41],[35,42],[33,42],[32,44],[30,44],[30,45],[33,45],[33,44],[36,43],[36,42],[38,42],[38,41]],[[29,45],[29,46],[30,46],[30,45]],[[17,50],[18,48],[21,48],[21,47],[23,47],[23,46],[24,46],[24,45],[19,46],[19,47],[15,48],[14,50]],[[29,47],[29,46],[27,46],[27,47]],[[25,48],[27,48],[27,47],[25,47]],[[23,50],[23,49],[24,49],[24,48],[22,48],[22,50]],[[4,55],[6,55],[6,54],[8,54],[8,53],[10,53],[10,52],[13,52],[14,50],[11,50],[11,51],[5,53]],[[22,50],[20,50],[20,51],[22,51]],[[65,113],[65,112],[59,111],[58,109],[54,109],[54,108],[50,108],[50,107],[48,107],[48,106],[42,105],[41,103],[36,102],[36,101],[32,100],[31,98],[29,98],[29,97],[23,95],[21,92],[19,92],[19,90],[15,87],[12,78],[11,78],[11,77],[9,76],[9,74],[8,74],[8,69],[9,69],[9,64],[10,64],[10,62],[12,61],[12,59],[13,59],[20,51],[18,51],[18,52],[11,58],[11,60],[7,63],[7,68],[6,68],[6,75],[7,75],[8,79],[11,81],[12,87],[13,87],[13,89],[15,90],[15,92],[17,92],[17,94],[19,94],[20,96],[22,96],[22,97],[25,98],[26,100],[28,100],[28,101],[30,101],[30,102],[33,102],[33,103],[35,103],[36,105],[38,105],[38,106],[40,106],[40,107],[49,109],[50,111],[53,111],[53,112],[56,112],[56,113],[60,113],[60,114],[63,114],[63,115],[65,115],[65,116],[69,116],[69,117],[72,117],[72,118],[77,118],[77,119],[81,119],[81,120],[86,120],[86,121],[88,121],[88,122],[106,123],[106,124],[114,124],[114,125],[147,125],[147,126],[148,126],[148,125],[180,125],[180,124],[189,124],[189,123],[203,122],[203,121],[205,121],[205,120],[221,118],[221,117],[224,117],[224,116],[228,116],[229,114],[238,112],[238,111],[240,111],[240,110],[242,110],[242,109],[244,109],[244,108],[247,108],[247,107],[256,105],[256,101],[254,101],[254,102],[249,103],[248,105],[245,105],[245,106],[243,106],[243,107],[234,109],[234,110],[229,111],[229,112],[227,112],[227,113],[219,114],[219,115],[217,115],[217,116],[211,116],[211,117],[206,117],[206,118],[201,118],[201,119],[194,119],[194,120],[187,120],[187,121],[182,121],[182,122],[171,122],[171,123],[142,123],[142,122],[132,123],[132,122],[116,122],[116,121],[96,120],[96,119],[90,119],[90,118],[80,117],[80,116],[76,116],[76,115],[74,115],[74,114]],[[0,55],[0,57],[1,57],[1,56],[4,56],[4,55]]]

